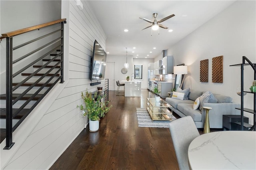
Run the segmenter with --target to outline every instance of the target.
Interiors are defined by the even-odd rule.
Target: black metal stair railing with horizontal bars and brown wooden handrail
[[[14,132],[14,130],[22,123],[22,121],[29,115],[29,113],[36,107],[36,105],[38,105],[38,103],[52,89],[52,87],[54,87],[54,85],[56,85],[56,83],[58,83],[59,81],[60,81],[60,83],[64,82],[63,51],[64,51],[64,24],[65,23],[66,23],[66,18],[48,22],[48,23],[44,23],[44,24],[40,24],[37,26],[32,26],[29,28],[24,28],[21,30],[16,30],[13,32],[8,32],[6,34],[2,34],[2,36],[0,37],[0,41],[2,41],[2,39],[6,38],[6,146],[4,148],[5,150],[9,150],[14,145],[14,142],[12,141],[12,132]],[[49,30],[52,31],[52,29],[53,29],[54,31],[44,34],[43,36],[39,36],[38,38],[34,38],[33,40],[29,40],[20,45],[17,45],[16,47],[13,47],[13,44],[14,44],[13,38],[15,36],[18,36],[20,34],[28,34],[28,32],[32,32],[32,31],[35,32],[36,30],[40,30],[41,28],[46,28],[46,29],[49,28]],[[29,39],[29,36],[30,36],[30,34],[26,35],[26,38]],[[48,42],[49,41],[48,39],[46,40],[44,38],[50,39],[50,42]],[[38,41],[43,41],[44,44],[37,47],[36,49],[34,49],[32,51],[29,51],[28,53],[26,53],[25,55],[23,55],[21,57],[15,56],[15,58],[17,58],[17,59],[13,60],[13,58],[14,58],[13,51],[14,50],[20,49],[20,48],[22,49],[22,47],[26,47],[26,45],[32,44],[34,42],[38,43]],[[15,43],[18,43],[18,42],[15,42]],[[40,43],[38,43],[38,44],[40,44]],[[14,77],[20,75],[23,71],[27,70],[29,67],[32,67],[35,63],[48,57],[51,53],[54,53],[54,51],[56,51],[57,49],[60,49],[60,52],[56,56],[54,56],[48,62],[43,64],[40,68],[38,68],[36,71],[34,71],[28,77],[26,77],[23,81],[21,81],[20,83],[18,83],[17,85],[15,85],[13,87]],[[44,50],[43,55],[41,55],[39,57],[35,55],[37,52],[43,51],[43,50]],[[13,64],[14,63],[20,63],[21,61],[24,61],[24,59],[26,59],[28,57],[32,58],[34,56],[36,56],[36,58],[33,59],[32,62],[27,63],[27,65],[22,67],[19,71],[16,71],[15,73],[13,73]],[[54,61],[54,59],[56,59],[57,57],[60,57],[60,61],[58,61],[54,65],[51,65],[52,62]],[[60,68],[58,68],[59,65],[60,65]],[[22,94],[19,94],[19,96],[16,97],[16,99],[13,99],[13,95],[12,95],[13,91],[15,91],[16,89],[18,89],[18,87],[27,83],[28,80],[31,80],[31,78],[34,75],[36,75],[36,73],[38,73],[39,71],[41,71],[44,68],[48,68],[49,66],[50,66],[50,69],[46,73],[44,73],[38,80],[36,80],[34,83],[32,83],[32,85],[30,85],[30,87],[28,87]],[[45,83],[43,83],[42,85],[40,85],[41,87],[34,94],[32,94],[30,96],[30,98],[19,109],[17,109],[15,111],[15,113],[12,113],[12,106],[17,101],[21,100],[22,97],[24,95],[26,95],[28,93],[28,91],[30,91],[33,87],[35,87],[36,85],[39,85],[40,84],[39,82],[42,81],[42,79],[45,78],[49,73],[52,73],[52,74],[50,77],[48,76],[49,77],[48,80]],[[60,75],[60,76],[53,83],[50,83],[54,79],[54,77],[56,77],[56,75]],[[13,126],[12,118],[16,117],[16,115],[18,115],[18,113],[22,109],[24,109],[24,107],[26,107],[28,105],[28,103],[30,103],[30,101],[32,101],[34,99],[34,97],[36,97],[36,95],[38,95],[40,93],[40,91],[46,86],[49,88],[32,105],[32,107],[30,107],[28,113],[26,113],[18,121],[18,123],[16,123],[16,125]]]

